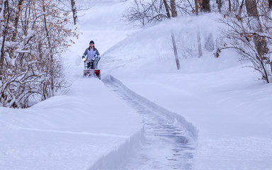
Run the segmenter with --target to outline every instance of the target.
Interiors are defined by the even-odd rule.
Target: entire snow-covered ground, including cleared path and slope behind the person
[[[79,4],[90,9],[79,13],[82,34],[64,56],[69,94],[0,108],[0,169],[272,169],[271,84],[231,50],[196,57],[196,30],[203,46],[215,39],[216,15],[140,29],[123,21],[129,4]],[[101,52],[102,81],[81,78],[90,40]]]

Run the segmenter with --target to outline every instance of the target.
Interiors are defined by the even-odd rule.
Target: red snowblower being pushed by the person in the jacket
[[[91,60],[83,58],[84,61],[83,77],[98,77],[98,79],[101,79],[100,69],[97,69],[99,60],[100,57],[96,57]]]

